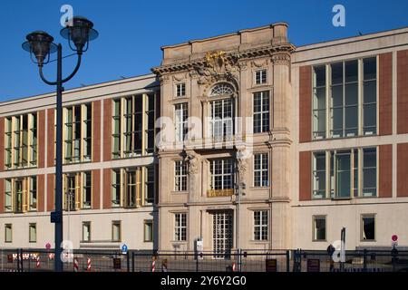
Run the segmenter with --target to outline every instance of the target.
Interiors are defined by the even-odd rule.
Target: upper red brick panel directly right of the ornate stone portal
[[[299,141],[312,140],[312,67],[299,68]]]

